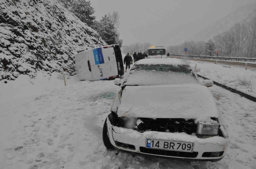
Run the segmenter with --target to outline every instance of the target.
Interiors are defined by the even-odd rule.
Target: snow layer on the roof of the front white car
[[[141,59],[136,65],[188,65],[186,60],[176,58]]]

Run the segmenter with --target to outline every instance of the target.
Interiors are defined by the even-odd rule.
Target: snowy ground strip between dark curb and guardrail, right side
[[[214,63],[206,63],[202,61],[189,61],[192,67],[196,66],[196,73],[204,77],[227,85],[231,88],[240,90],[248,95],[256,97],[256,70],[242,67],[225,66]],[[247,80],[251,83],[241,85],[238,79]]]

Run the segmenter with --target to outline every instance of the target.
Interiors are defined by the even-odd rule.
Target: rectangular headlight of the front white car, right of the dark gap
[[[196,135],[205,135],[205,136],[218,136],[219,135],[219,124],[209,124],[199,122],[197,124]]]

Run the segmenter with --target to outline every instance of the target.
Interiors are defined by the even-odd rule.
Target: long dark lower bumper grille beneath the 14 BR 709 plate
[[[187,157],[187,158],[196,158],[198,152],[183,152],[183,151],[169,151],[169,150],[159,150],[140,147],[140,152],[164,156],[173,156],[173,157]]]

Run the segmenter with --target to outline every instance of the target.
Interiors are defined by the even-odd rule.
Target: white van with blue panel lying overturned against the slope
[[[80,80],[106,80],[124,75],[122,53],[118,45],[101,46],[75,55]]]

